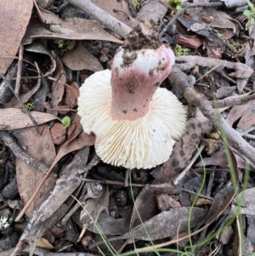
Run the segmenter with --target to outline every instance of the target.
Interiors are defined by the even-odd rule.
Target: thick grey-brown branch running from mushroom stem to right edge
[[[212,108],[212,103],[210,101],[205,100],[200,94],[195,92],[195,89],[192,88],[188,82],[188,77],[184,72],[180,71],[176,65],[173,66],[169,79],[176,85],[178,90],[190,104],[197,106],[201,110],[202,114],[212,122],[212,125],[215,128],[219,131],[222,129],[225,131],[226,139],[235,150],[246,156],[252,164],[255,164],[255,148],[248,144],[246,140],[241,137],[240,133],[229,126],[218,111]]]

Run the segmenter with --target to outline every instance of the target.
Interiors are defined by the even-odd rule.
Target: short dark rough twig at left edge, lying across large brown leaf
[[[33,157],[27,155],[24,151],[21,151],[19,145],[17,145],[14,139],[12,139],[12,137],[7,132],[0,131],[0,140],[4,141],[8,145],[8,147],[14,153],[14,156],[22,159],[34,168],[41,170],[43,174],[48,172],[48,167],[45,164],[38,162]]]

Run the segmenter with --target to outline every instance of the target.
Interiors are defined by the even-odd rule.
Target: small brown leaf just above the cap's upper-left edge
[[[89,70],[96,72],[104,69],[99,60],[82,45],[82,42],[77,42],[75,48],[65,52],[60,58],[71,71]]]

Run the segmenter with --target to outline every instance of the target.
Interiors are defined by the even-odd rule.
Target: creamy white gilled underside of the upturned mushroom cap
[[[186,125],[184,106],[165,88],[157,88],[146,116],[113,120],[110,70],[98,71],[82,84],[78,115],[84,132],[95,134],[102,161],[125,168],[154,168],[166,162]]]

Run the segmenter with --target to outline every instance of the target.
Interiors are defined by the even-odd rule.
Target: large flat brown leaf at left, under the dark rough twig
[[[37,161],[46,164],[48,167],[54,162],[55,147],[51,139],[48,126],[42,126],[42,134],[38,135],[34,128],[23,128],[14,131],[20,148],[26,149],[26,153]],[[17,158],[16,160],[16,179],[20,196],[24,204],[31,198],[37,185],[41,182],[45,174],[42,174],[37,168],[31,167],[26,162]],[[30,219],[35,209],[41,206],[42,202],[48,198],[50,191],[54,188],[56,178],[51,175],[42,186],[40,194],[31,203],[26,211],[26,216]]]

